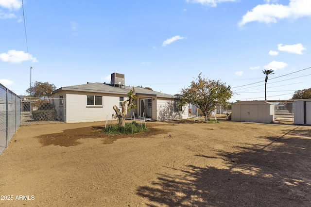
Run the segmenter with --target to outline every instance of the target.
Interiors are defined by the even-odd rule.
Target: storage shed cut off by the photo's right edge
[[[294,124],[311,125],[311,99],[294,100]]]

